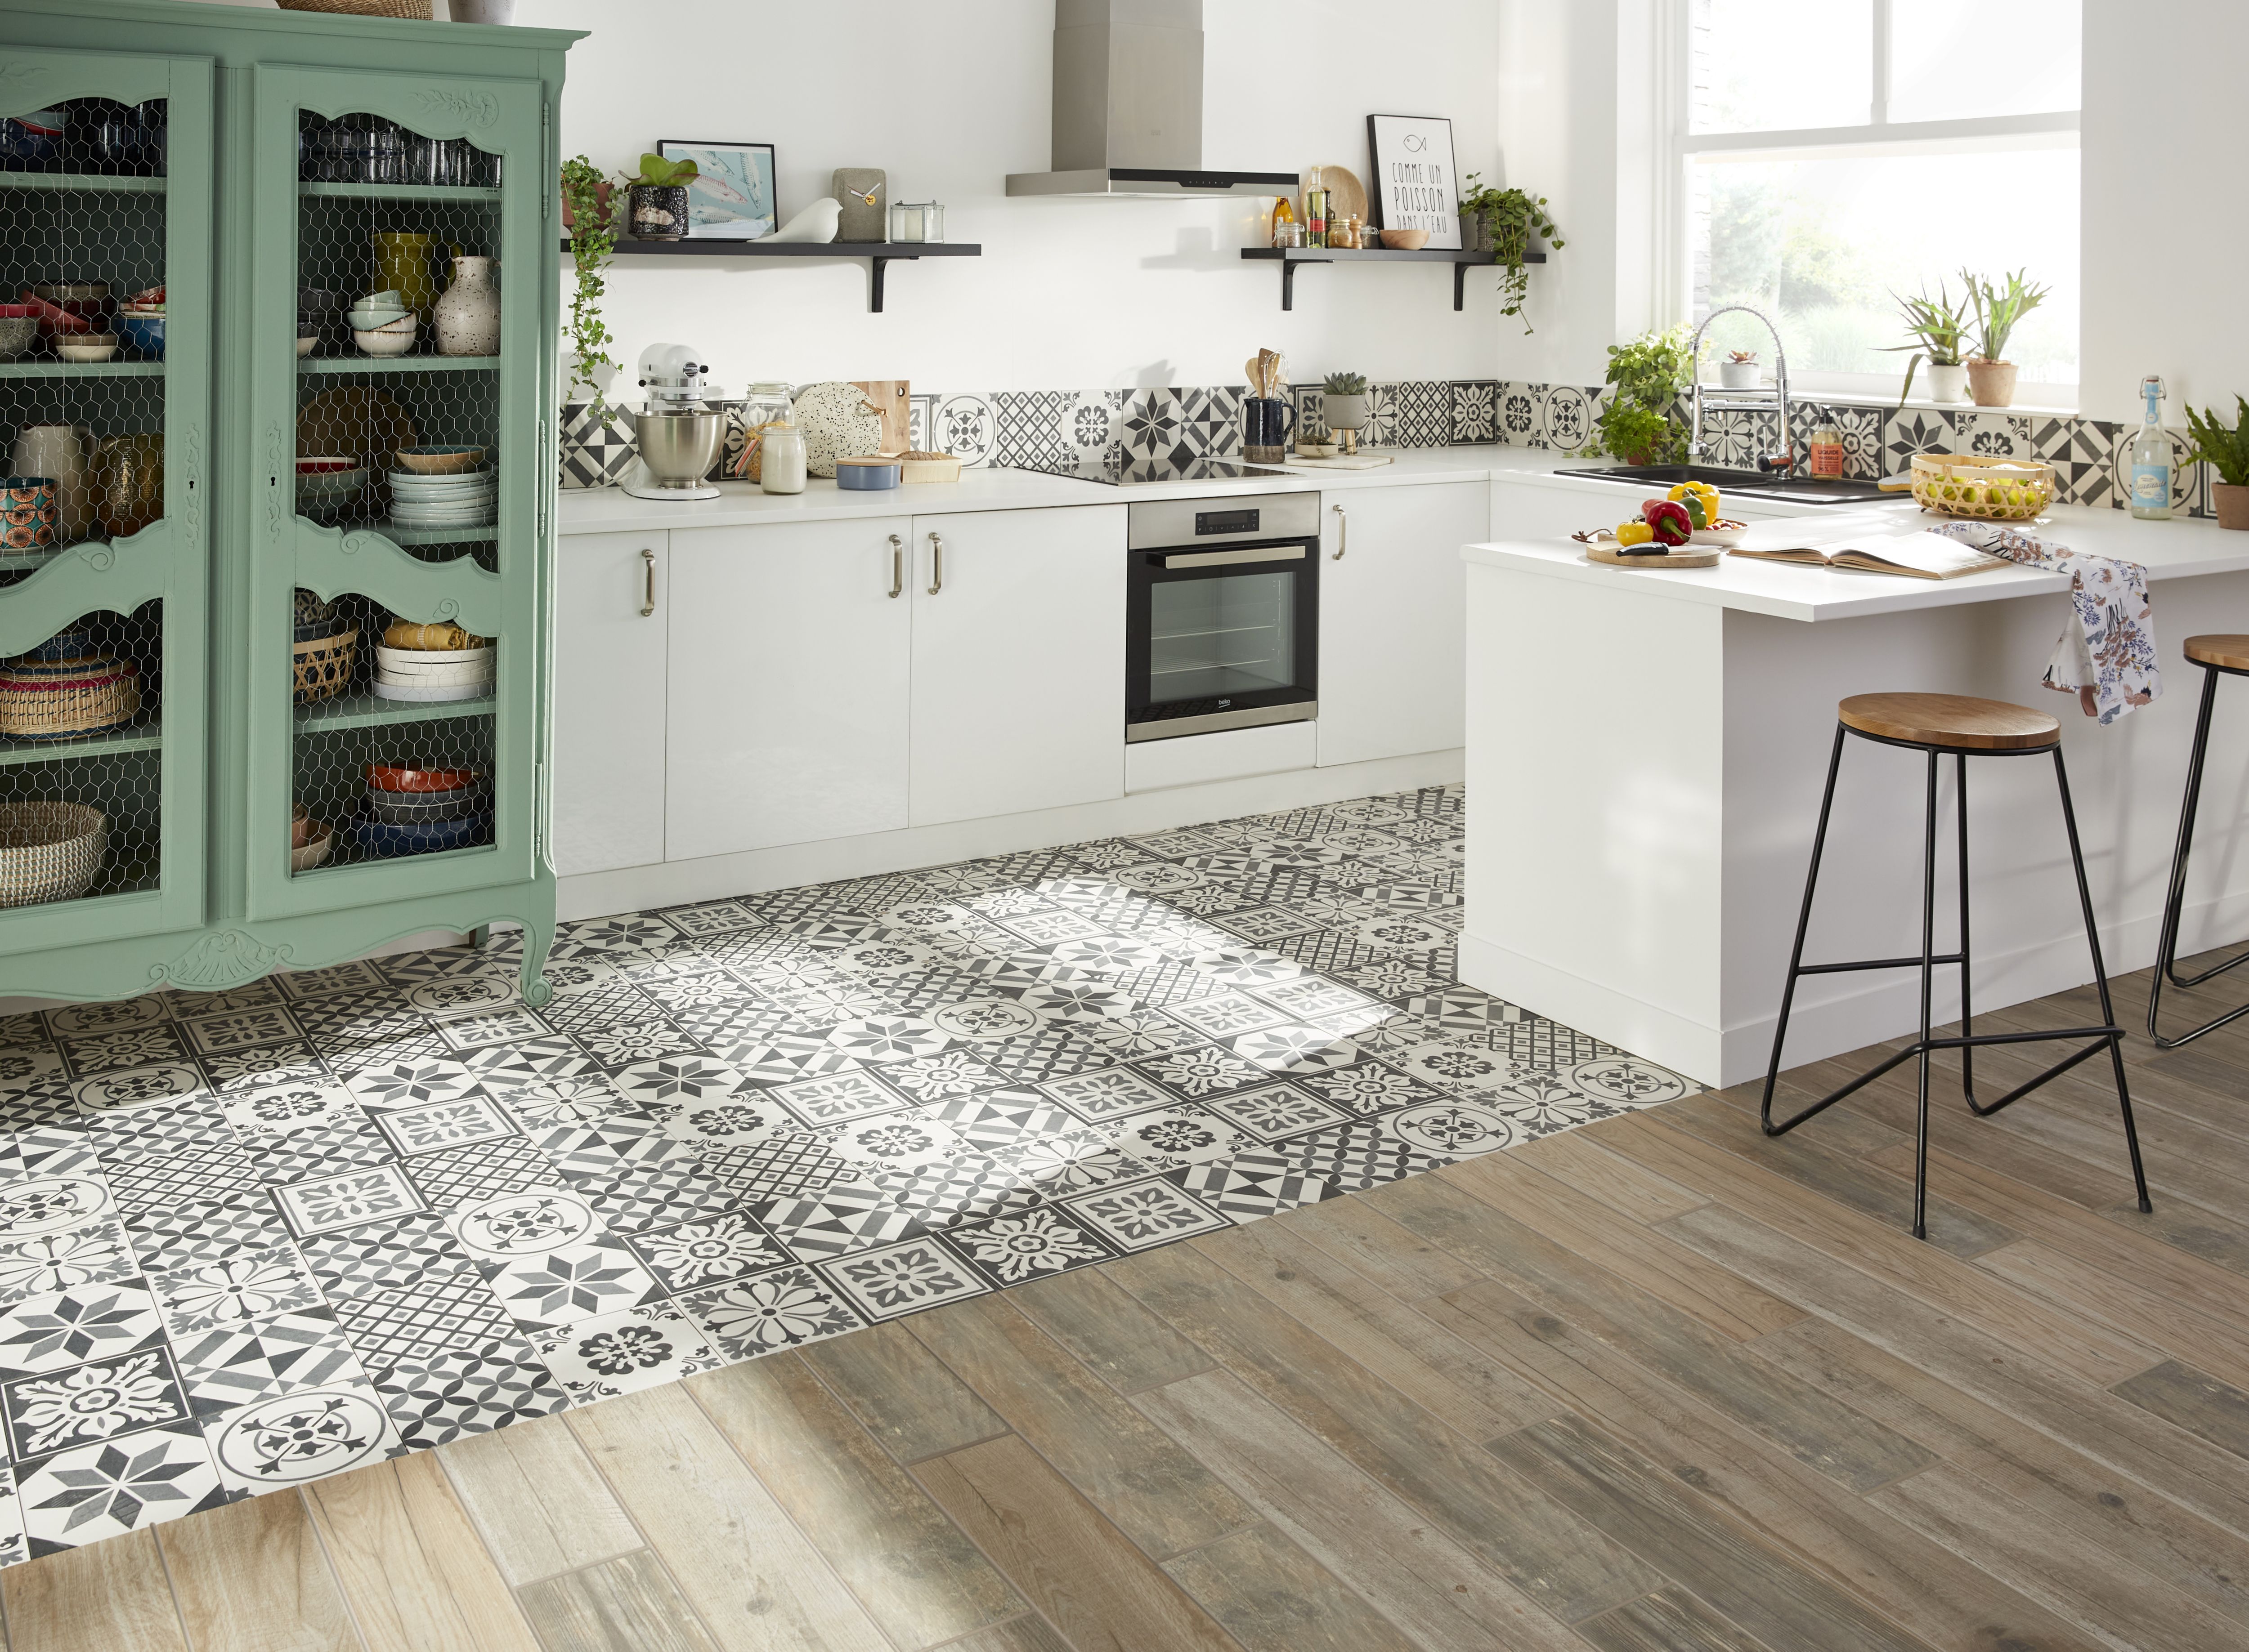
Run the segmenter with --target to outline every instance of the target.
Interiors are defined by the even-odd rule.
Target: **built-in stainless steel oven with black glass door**
[[[1124,739],[1320,715],[1320,494],[1127,506]]]

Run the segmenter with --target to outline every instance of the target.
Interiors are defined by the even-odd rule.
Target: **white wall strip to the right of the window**
[[[2085,339],[2078,407],[2139,418],[2161,373],[2166,416],[2249,393],[2240,207],[2242,0],[2085,4]]]

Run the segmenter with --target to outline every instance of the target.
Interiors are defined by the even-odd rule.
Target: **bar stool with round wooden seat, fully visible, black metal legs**
[[[2236,638],[2249,643],[2249,638]],[[2204,701],[2206,708],[2209,701]],[[2123,1110],[2123,1140],[2132,1153],[2132,1182],[2139,1191],[2139,1207],[2148,1202],[2148,1176],[2139,1164],[2139,1133],[2132,1128],[2132,1092],[2123,1077],[2123,1027],[2110,1005],[2107,971],[2101,966],[2101,935],[2094,928],[2094,897],[2085,886],[2085,854],[2078,850],[2078,818],[2069,807],[2069,769],[2062,764],[2062,726],[2029,706],[2008,706],[2002,699],[1970,699],[1966,695],[1851,695],[1837,708],[1835,751],[1828,757],[1826,793],[1819,798],[1819,827],[1813,834],[1813,865],[1804,877],[1804,910],[1797,915],[1797,944],[1788,953],[1788,987],[1781,993],[1781,1020],[1772,1029],[1772,1065],[1765,1070],[1765,1097],[1759,1106],[1759,1122],[1765,1135],[1786,1135],[1810,1117],[1835,1106],[1855,1090],[1873,1083],[1891,1068],[1921,1063],[1921,1110],[1914,1133],[1914,1238],[1927,1238],[1927,1189],[1930,1189],[1930,1052],[1961,1052],[1961,1095],[1968,1110],[1988,1119],[1999,1108],[2013,1106],[2049,1079],[2058,1079],[2080,1061],[2110,1052],[2116,1068],[2116,1106]],[[1806,964],[1804,931],[1813,919],[1813,892],[1819,888],[1819,856],[1826,850],[1828,814],[1835,805],[1835,775],[1842,769],[1842,742],[1846,735],[1871,739],[1880,746],[1903,746],[1923,751],[1930,757],[1927,820],[1923,827],[1921,854],[1921,955],[1918,957],[1869,957],[1849,964]],[[2078,877],[2078,908],[2085,915],[2085,944],[2094,955],[2094,984],[2101,989],[2098,1027],[2056,1027],[2051,1032],[1986,1032],[1977,1034],[1968,1018],[1968,760],[1970,757],[2035,757],[2053,753],[2053,780],[2062,793],[2062,825],[2069,832],[2069,865]],[[1961,944],[1959,951],[1936,951],[1936,764],[1941,757],[1954,760],[1954,796],[1959,798],[1959,883],[1961,883]],[[2193,793],[2188,793],[2193,796]],[[1961,1032],[1957,1038],[1939,1038],[1930,1027],[1930,991],[1939,964],[1961,969]],[[1786,1119],[1772,1117],[1772,1086],[1781,1077],[1781,1045],[1788,1038],[1788,1011],[1795,1007],[1799,975],[1837,975],[1858,969],[1918,969],[1921,971],[1921,1036],[1871,1072],[1862,1072],[1840,1090],[1819,1097],[1801,1113]],[[1999,1043],[2053,1043],[2089,1038],[2083,1050],[2056,1061],[1997,1101],[1984,1104],[1975,1097],[1975,1050]]]

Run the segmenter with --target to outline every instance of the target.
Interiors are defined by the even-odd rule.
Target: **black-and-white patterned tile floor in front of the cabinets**
[[[1682,1095],[1457,787],[0,1023],[0,1562]]]

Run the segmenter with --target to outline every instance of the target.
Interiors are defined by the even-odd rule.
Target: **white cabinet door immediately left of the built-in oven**
[[[913,519],[911,769],[913,825],[1124,796],[1124,506]]]

